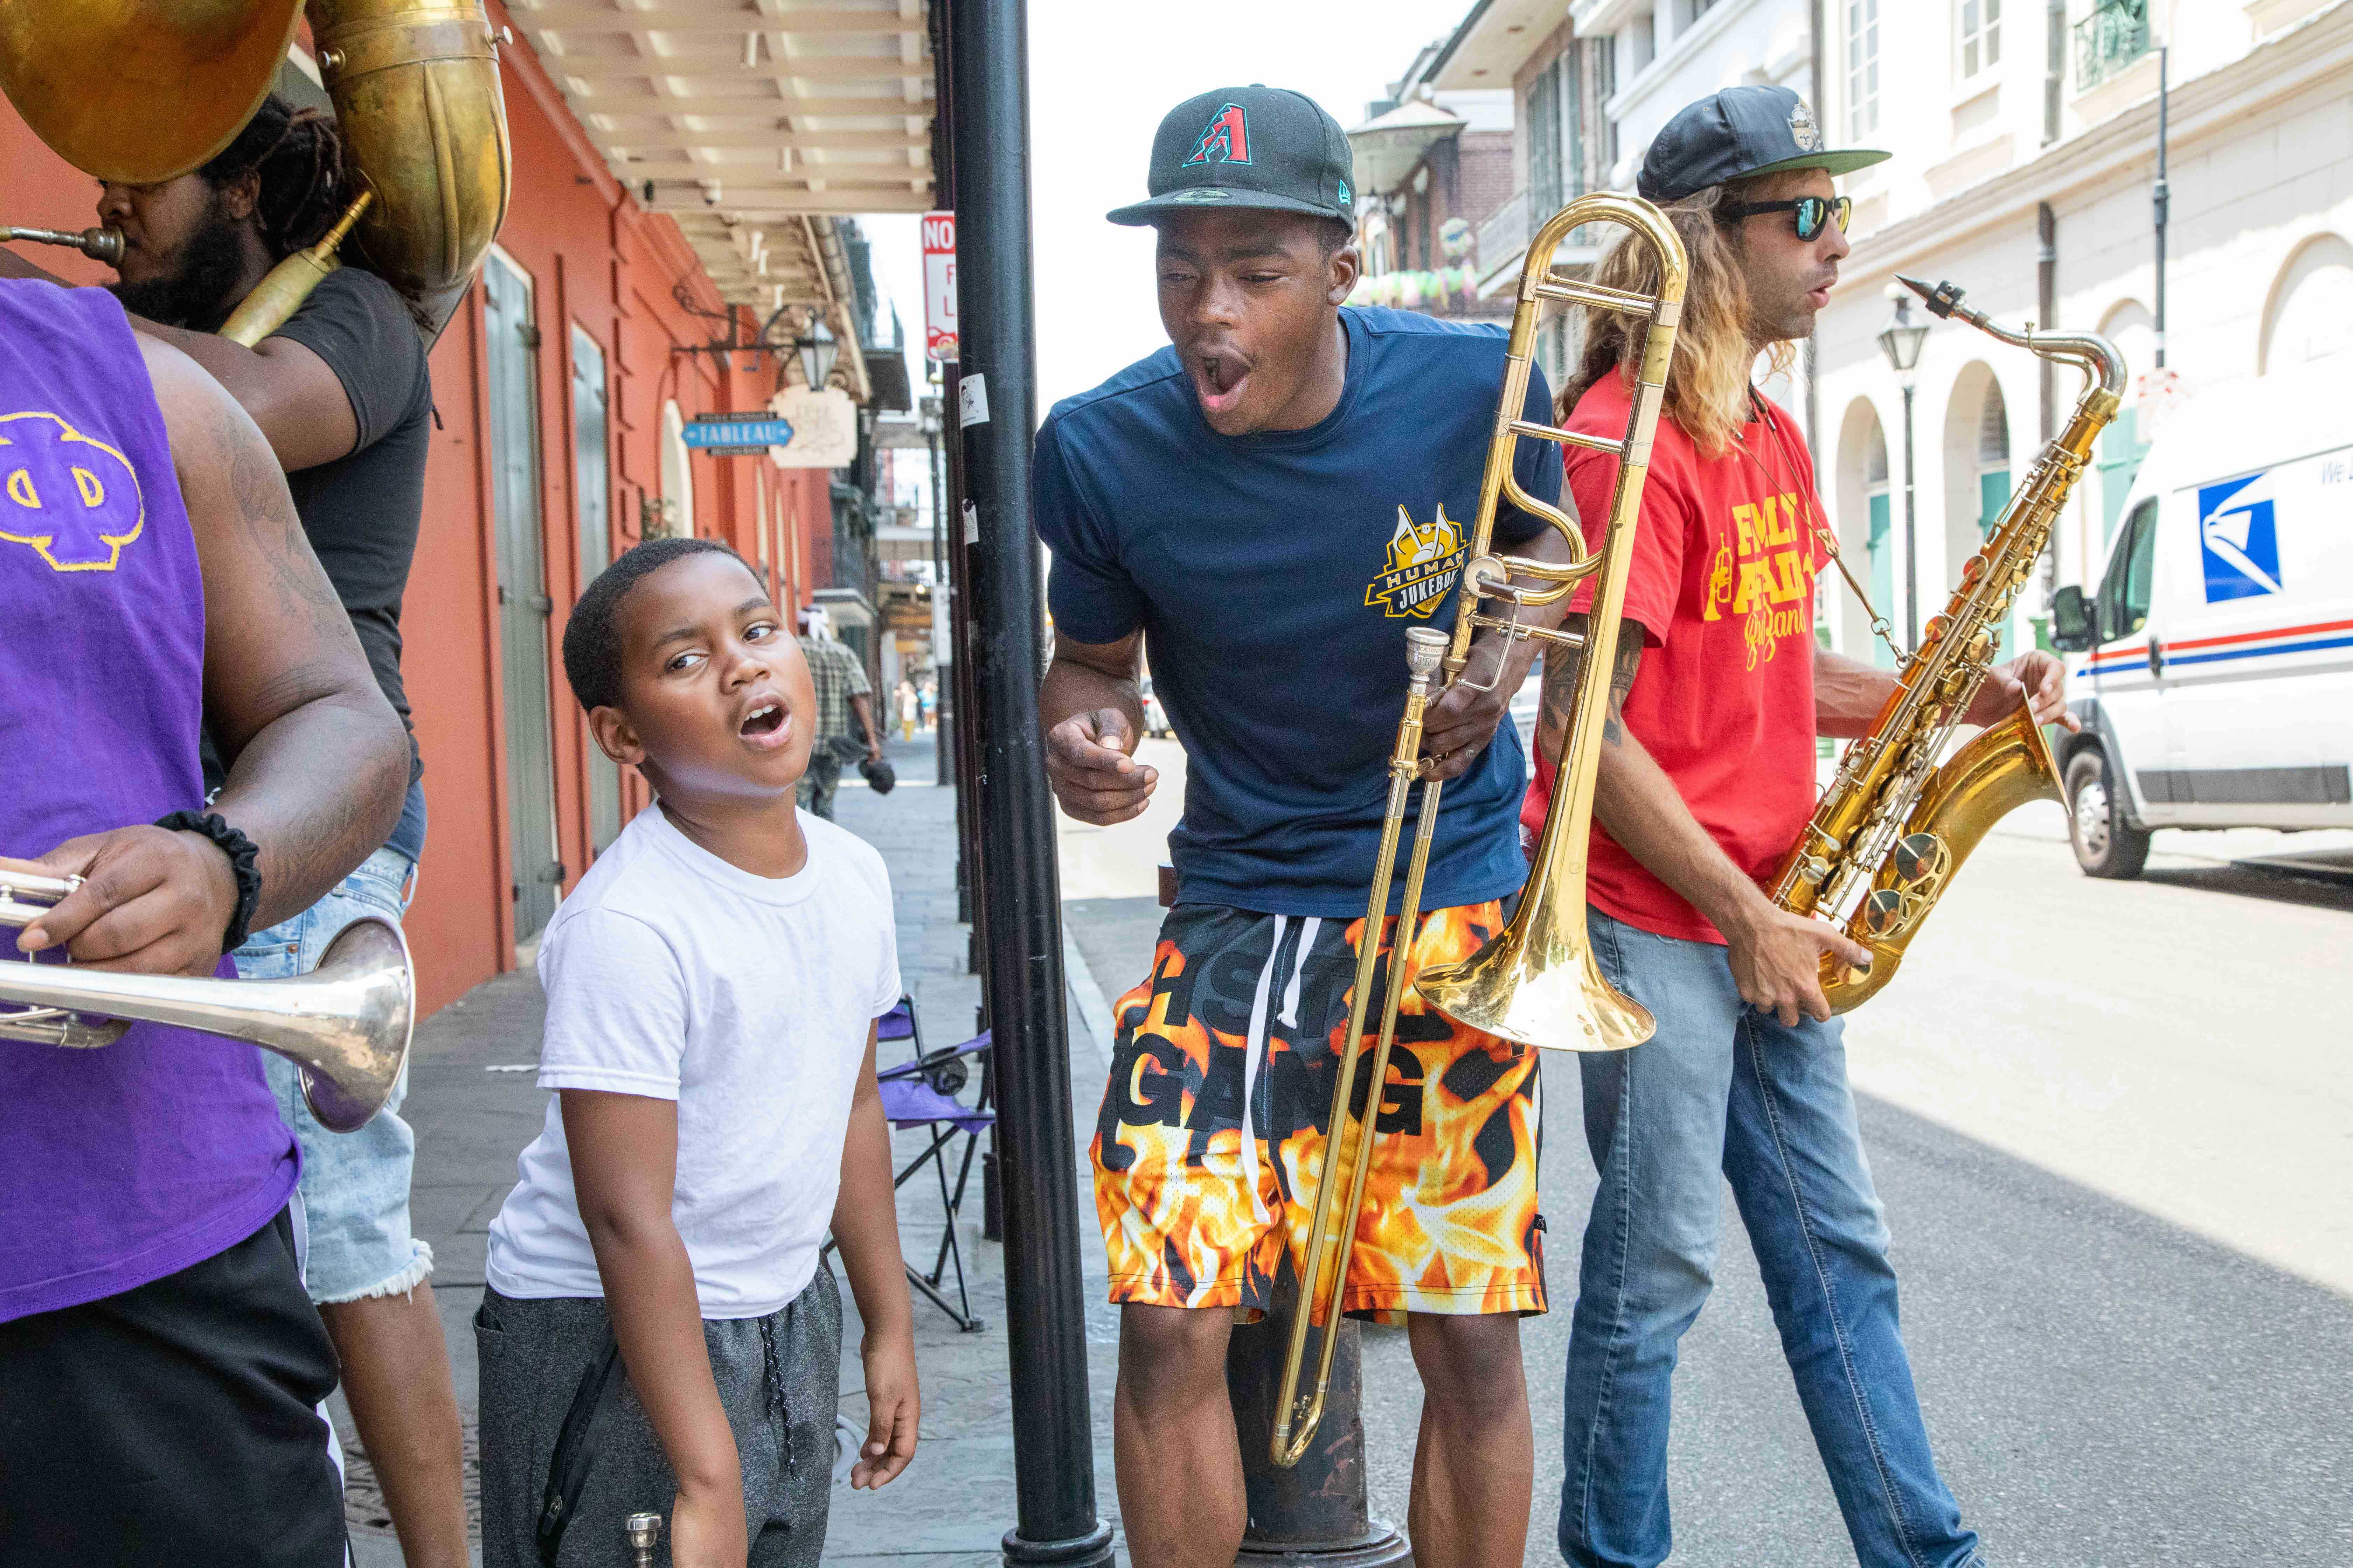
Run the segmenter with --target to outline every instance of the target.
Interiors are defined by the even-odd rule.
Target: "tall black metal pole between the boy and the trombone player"
[[[1038,416],[1028,221],[1028,7],[953,0],[958,425],[969,550],[981,905],[1005,1192],[1005,1326],[1016,1521],[1007,1563],[1113,1561],[1094,1512],[1094,1422],[1078,1272],[1078,1145],[1061,980],[1054,802],[1038,729],[1045,616],[1031,531]]]

